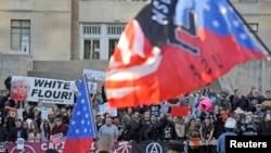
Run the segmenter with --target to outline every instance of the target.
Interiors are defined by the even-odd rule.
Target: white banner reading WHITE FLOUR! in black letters
[[[12,76],[11,99],[21,101],[73,104],[75,81]]]

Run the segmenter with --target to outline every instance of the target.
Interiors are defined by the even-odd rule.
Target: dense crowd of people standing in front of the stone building
[[[205,99],[210,101],[211,109],[207,110],[202,103]],[[224,144],[218,141],[224,141],[220,137],[227,129],[232,129],[236,136],[271,136],[270,101],[270,90],[261,94],[255,87],[247,94],[242,94],[238,89],[232,94],[225,89],[219,93],[204,89],[158,104],[120,109],[117,116],[112,116],[99,110],[106,98],[99,92],[91,95],[96,140],[103,135],[112,136],[114,141],[177,140],[189,152],[199,153],[224,152]],[[14,116],[7,106],[23,107],[22,114],[17,115],[22,118]],[[17,138],[28,142],[65,138],[73,106],[56,104],[48,107],[42,102],[13,101],[7,90],[0,103],[0,142],[16,142]],[[188,106],[188,115],[173,116],[172,106]],[[42,118],[43,110],[52,111]],[[225,124],[228,119],[234,120],[234,125]],[[199,140],[201,145],[191,144],[192,139]]]

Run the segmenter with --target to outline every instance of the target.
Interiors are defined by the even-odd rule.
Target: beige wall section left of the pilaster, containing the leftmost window
[[[70,0],[1,0],[0,52],[70,60]]]

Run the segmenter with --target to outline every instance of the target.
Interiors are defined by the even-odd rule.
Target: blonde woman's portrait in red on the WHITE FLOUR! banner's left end
[[[30,85],[24,79],[12,79],[11,82],[11,99],[26,101]]]

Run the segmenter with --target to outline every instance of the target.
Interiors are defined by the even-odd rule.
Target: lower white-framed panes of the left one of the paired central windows
[[[100,60],[100,40],[85,39],[83,40],[83,59]]]

